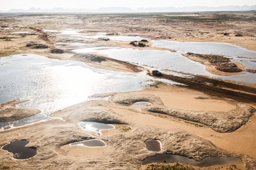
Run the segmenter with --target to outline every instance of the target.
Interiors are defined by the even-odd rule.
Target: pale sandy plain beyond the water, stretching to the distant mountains
[[[63,17],[64,16],[64,17]],[[161,19],[158,19],[158,17]],[[256,26],[252,22],[254,19],[253,12],[221,12],[221,15],[211,13],[184,13],[184,15],[177,15],[177,13],[168,14],[151,14],[151,15],[130,15],[123,16],[113,14],[55,14],[53,17],[44,17],[41,15],[29,15],[29,22],[27,15],[2,15],[2,26],[23,26],[25,28],[0,30],[0,36],[9,37],[11,41],[0,39],[0,50],[4,50],[1,56],[8,56],[14,53],[20,53],[20,50],[25,53],[35,53],[52,58],[63,58],[65,60],[79,60],[81,59],[71,57],[74,55],[70,50],[72,47],[67,44],[56,43],[85,43],[86,47],[99,47],[99,46],[119,46],[124,48],[134,49],[158,49],[170,50],[165,48],[151,47],[151,43],[145,43],[149,47],[134,47],[129,45],[130,42],[124,41],[104,41],[97,39],[87,39],[84,41],[78,40],[76,36],[69,36],[68,39],[58,35],[61,30],[65,31],[67,28],[77,30],[87,35],[96,35],[97,32],[116,33],[121,32],[118,36],[136,36],[150,38],[153,40],[166,39],[173,41],[195,41],[195,42],[223,42],[239,45],[241,47],[256,51]],[[55,18],[52,20],[52,18]],[[141,19],[143,18],[143,19]],[[69,24],[67,24],[67,22]],[[86,24],[90,23],[90,24]],[[189,28],[189,29],[188,29]],[[43,29],[56,30],[55,32],[44,32]],[[28,31],[29,33],[12,34],[16,31]],[[224,33],[229,33],[227,36]],[[48,35],[45,37],[45,35]],[[235,36],[241,34],[242,36]],[[27,42],[35,41],[40,44],[48,44],[49,49],[34,50],[30,48],[23,48]],[[50,49],[60,48],[65,50],[63,54],[49,53]],[[175,51],[175,49],[170,50]],[[111,70],[126,70],[134,71],[129,66],[124,69],[123,63],[107,60],[106,62],[91,62],[89,60],[82,60],[87,64],[103,69]]]

